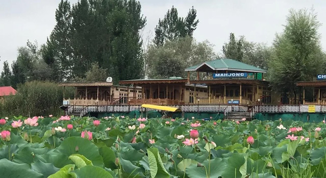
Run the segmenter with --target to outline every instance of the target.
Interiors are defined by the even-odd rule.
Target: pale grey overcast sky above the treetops
[[[27,40],[43,44],[56,24],[55,11],[59,0],[14,0],[0,1],[0,70],[3,61],[11,64],[17,58],[17,48],[24,46]],[[77,1],[70,1],[71,4]],[[176,7],[179,16],[185,17],[194,6],[199,24],[194,33],[197,41],[208,40],[214,44],[216,53],[221,53],[222,45],[228,41],[231,32],[244,35],[254,42],[273,43],[276,33],[283,31],[289,9],[315,9],[318,20],[321,44],[326,49],[326,1],[314,0],[141,0],[142,11],[147,18],[144,35],[154,34],[159,18],[167,10]]]

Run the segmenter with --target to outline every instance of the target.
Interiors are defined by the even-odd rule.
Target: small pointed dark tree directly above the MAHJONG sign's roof
[[[230,33],[230,40],[223,45],[223,54],[226,58],[242,61],[242,38],[236,40],[233,33]]]

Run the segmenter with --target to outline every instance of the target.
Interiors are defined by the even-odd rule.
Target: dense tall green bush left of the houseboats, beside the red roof
[[[47,116],[61,115],[63,88],[51,82],[27,82],[19,85],[16,95],[4,99],[0,115]]]

